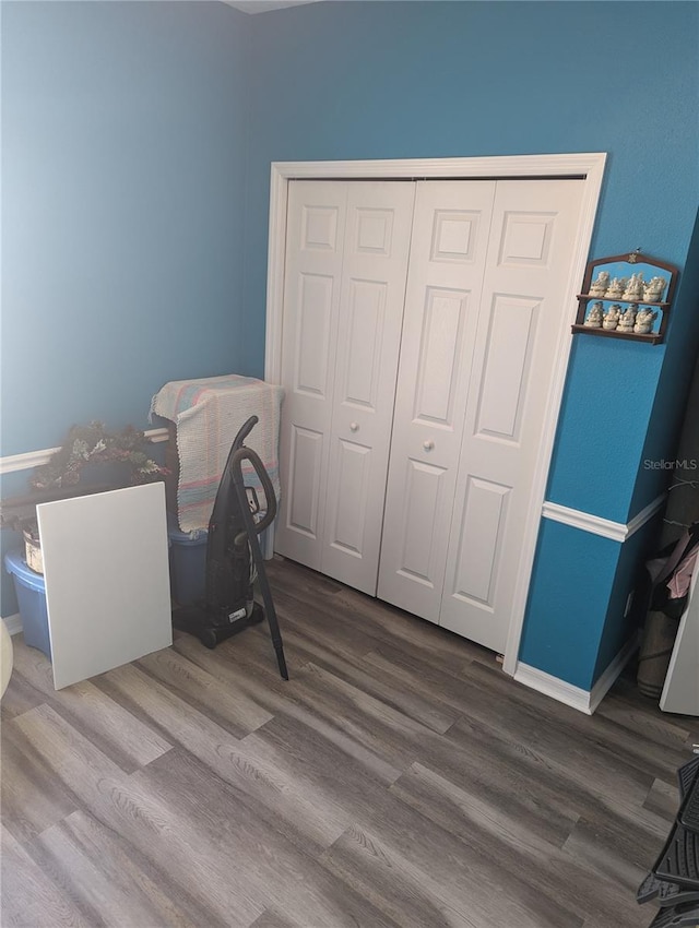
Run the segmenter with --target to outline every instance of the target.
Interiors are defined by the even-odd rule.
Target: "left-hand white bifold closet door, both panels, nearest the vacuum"
[[[376,593],[415,185],[289,183],[275,549]]]

